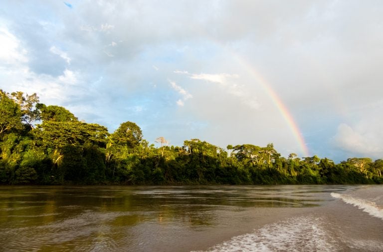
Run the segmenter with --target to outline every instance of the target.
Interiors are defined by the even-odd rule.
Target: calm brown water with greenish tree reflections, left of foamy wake
[[[347,187],[0,189],[1,251],[191,251],[211,243],[214,232],[223,239],[320,208]]]

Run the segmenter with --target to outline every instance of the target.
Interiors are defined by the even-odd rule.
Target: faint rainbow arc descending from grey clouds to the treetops
[[[305,155],[305,157],[309,157],[309,149],[307,148],[305,139],[303,138],[297,123],[294,121],[293,116],[291,115],[286,105],[282,102],[281,98],[279,98],[277,93],[272,89],[271,84],[269,84],[265,78],[245,58],[239,56],[236,53],[232,53],[232,55],[235,57],[236,61],[241,64],[241,67],[246,69],[246,71],[249,72],[251,76],[254,77],[254,79],[257,80],[257,82],[262,86],[289,126],[294,138],[297,140],[299,147],[301,148],[303,155]]]

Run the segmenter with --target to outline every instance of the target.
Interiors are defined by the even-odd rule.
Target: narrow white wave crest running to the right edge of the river
[[[383,220],[383,209],[378,207],[377,204],[373,201],[362,200],[354,198],[350,195],[339,193],[331,193],[331,196],[336,199],[341,199],[345,203],[358,207],[359,209],[362,209],[363,212]]]

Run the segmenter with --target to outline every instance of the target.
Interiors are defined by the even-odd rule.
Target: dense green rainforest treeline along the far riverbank
[[[273,144],[227,146],[199,139],[159,147],[133,122],[113,133],[79,121],[36,94],[0,90],[0,184],[383,184],[383,160],[335,164],[317,156],[287,158]]]

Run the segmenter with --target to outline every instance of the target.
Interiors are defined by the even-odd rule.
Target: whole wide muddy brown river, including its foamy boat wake
[[[3,186],[0,251],[378,252],[383,186]]]

